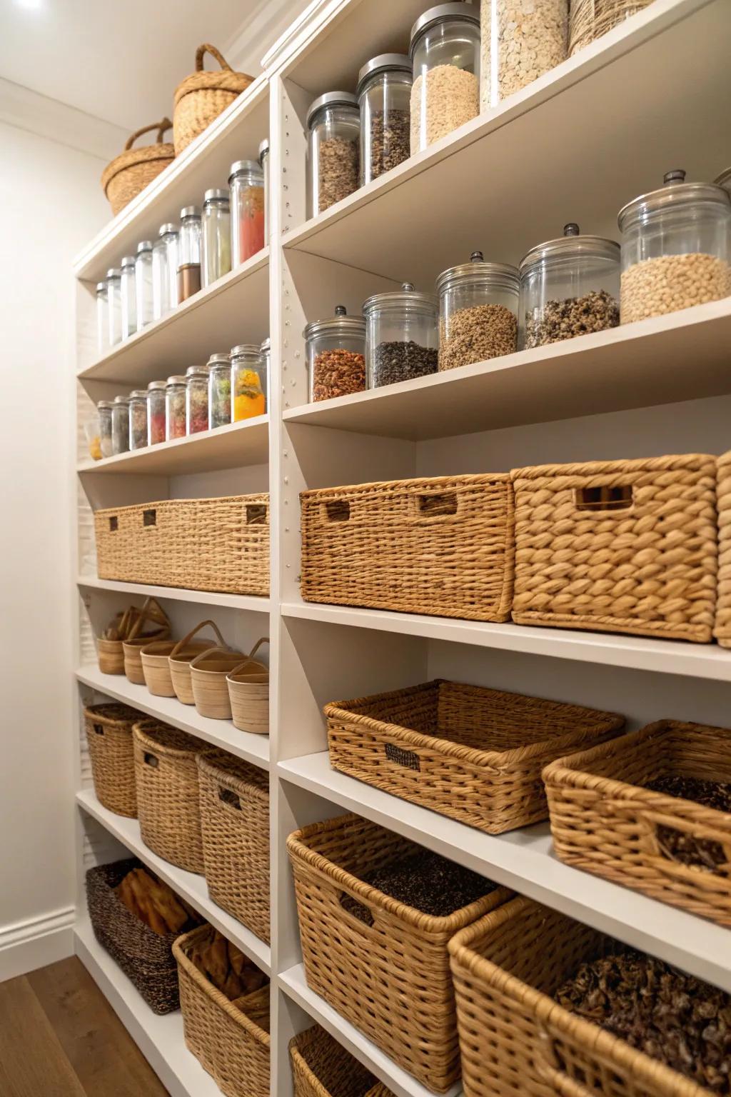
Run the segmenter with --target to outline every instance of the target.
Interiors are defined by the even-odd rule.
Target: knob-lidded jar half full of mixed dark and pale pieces
[[[563,236],[532,248],[521,261],[523,346],[573,339],[619,324],[619,245],[582,236],[566,225]]]

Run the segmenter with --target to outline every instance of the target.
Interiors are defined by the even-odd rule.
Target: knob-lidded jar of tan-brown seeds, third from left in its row
[[[517,350],[519,285],[515,267],[486,262],[481,251],[439,274],[441,371]]]

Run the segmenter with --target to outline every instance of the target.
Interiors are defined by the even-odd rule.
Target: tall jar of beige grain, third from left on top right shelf
[[[480,110],[480,16],[471,3],[442,3],[411,27],[411,155]]]

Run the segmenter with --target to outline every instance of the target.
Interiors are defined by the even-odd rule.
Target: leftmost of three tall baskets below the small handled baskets
[[[132,727],[139,713],[110,702],[87,705],[83,717],[96,799],[115,815],[137,818]]]

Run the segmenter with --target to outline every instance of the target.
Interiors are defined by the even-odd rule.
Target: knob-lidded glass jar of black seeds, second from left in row
[[[436,373],[438,302],[411,282],[377,293],[363,305],[366,321],[368,388]]]

